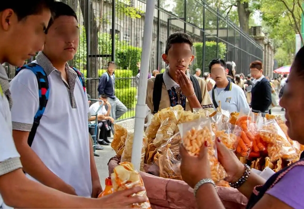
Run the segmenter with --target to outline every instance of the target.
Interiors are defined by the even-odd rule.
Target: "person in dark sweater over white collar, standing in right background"
[[[269,81],[263,75],[262,62],[254,61],[250,64],[250,72],[255,80],[251,90],[251,108],[252,112],[262,113],[264,116],[269,113],[269,107],[272,104],[271,86]]]

